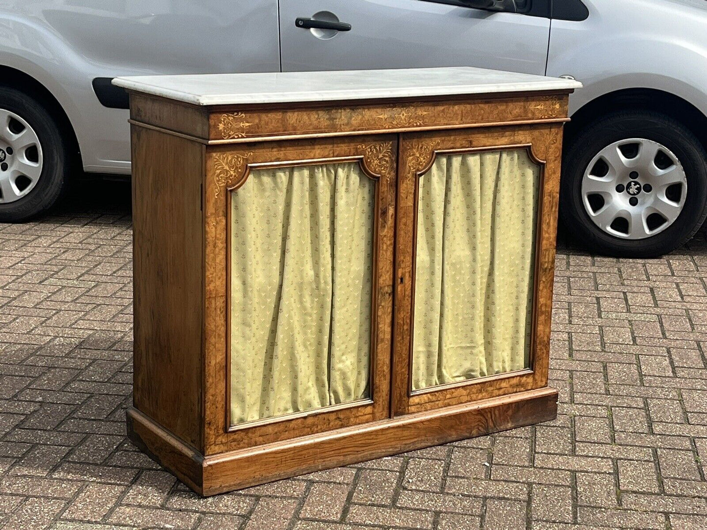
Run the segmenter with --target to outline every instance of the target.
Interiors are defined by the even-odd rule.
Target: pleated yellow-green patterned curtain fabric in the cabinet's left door
[[[375,182],[255,170],[232,194],[232,424],[368,396]]]

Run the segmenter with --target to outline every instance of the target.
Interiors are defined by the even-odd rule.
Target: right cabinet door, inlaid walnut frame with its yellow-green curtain
[[[404,134],[393,412],[547,386],[561,127]]]

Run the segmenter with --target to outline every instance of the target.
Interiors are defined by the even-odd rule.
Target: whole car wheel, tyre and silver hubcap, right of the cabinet
[[[560,214],[592,251],[658,257],[707,215],[707,153],[680,122],[615,112],[573,139],[563,157]]]

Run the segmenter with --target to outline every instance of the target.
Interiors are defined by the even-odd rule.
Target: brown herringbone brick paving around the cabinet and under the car
[[[0,524],[705,529],[706,233],[655,260],[561,245],[553,423],[200,499],[124,437],[129,189],[90,184],[0,225]]]

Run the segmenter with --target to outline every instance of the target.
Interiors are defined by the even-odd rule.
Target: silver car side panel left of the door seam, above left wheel
[[[83,167],[129,172],[125,110],[96,77],[276,71],[277,0],[17,0],[0,6],[0,64],[39,81],[74,126]]]

